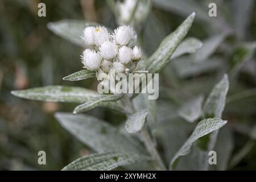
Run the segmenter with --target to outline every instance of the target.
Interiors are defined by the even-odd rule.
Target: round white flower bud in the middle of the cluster
[[[106,60],[113,59],[117,56],[117,45],[113,42],[106,41],[100,46],[101,57]]]

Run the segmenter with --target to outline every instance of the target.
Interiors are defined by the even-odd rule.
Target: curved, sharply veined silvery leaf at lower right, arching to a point
[[[187,139],[187,141],[183,144],[179,151],[177,151],[174,158],[172,158],[170,163],[170,169],[174,169],[175,162],[180,156],[189,154],[192,144],[196,142],[197,139],[211,133],[212,131],[220,129],[225,124],[226,121],[222,121],[222,119],[219,118],[208,118],[200,121],[191,136]]]

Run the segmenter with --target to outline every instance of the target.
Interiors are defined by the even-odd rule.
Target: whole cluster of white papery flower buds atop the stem
[[[108,74],[131,72],[141,60],[142,51],[134,46],[137,35],[130,26],[121,26],[110,35],[105,27],[86,27],[82,40],[93,49],[82,53],[84,68]]]

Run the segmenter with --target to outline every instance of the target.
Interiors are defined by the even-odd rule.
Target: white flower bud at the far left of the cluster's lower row
[[[84,52],[82,52],[82,64],[84,64],[84,68],[90,69],[90,70],[96,70],[101,65],[101,56],[91,49],[85,49]]]

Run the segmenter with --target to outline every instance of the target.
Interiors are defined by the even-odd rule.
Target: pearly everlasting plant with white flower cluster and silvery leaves
[[[125,1],[125,3],[127,2]],[[129,3],[131,2],[129,1]],[[138,11],[143,8],[141,5],[135,6],[137,6]],[[122,9],[122,6],[120,8]],[[129,14],[130,12],[126,13]],[[133,20],[136,20],[137,16],[139,14],[135,11],[135,19]],[[126,17],[126,15],[122,15],[123,17]],[[184,119],[183,122],[187,122],[186,126],[188,127],[180,129],[184,130],[185,137],[170,133],[172,127],[168,126],[172,126],[172,122],[165,125],[158,121],[158,119],[161,120],[163,115],[157,115],[156,109],[158,109],[158,106],[156,106],[157,102],[155,100],[148,100],[145,97],[146,94],[141,92],[131,94],[119,92],[126,85],[129,87],[129,83],[115,92],[113,91],[115,85],[120,82],[109,82],[112,77],[120,73],[120,77],[133,73],[131,75],[134,76],[135,80],[142,73],[148,73],[148,75],[156,73],[155,77],[158,77],[158,73],[167,67],[174,57],[188,53],[196,56],[196,51],[200,51],[203,43],[196,38],[183,40],[192,26],[194,18],[195,13],[189,15],[175,31],[162,40],[155,52],[148,57],[143,55],[144,50],[138,46],[137,34],[133,27],[124,25],[111,31],[110,28],[98,24],[82,24],[83,28],[79,30],[80,35],[74,35],[69,39],[76,43],[79,42],[79,45],[84,47],[81,55],[84,69],[63,79],[79,81],[96,77],[100,81],[99,85],[104,87],[108,85],[110,91],[108,94],[100,94],[96,90],[76,86],[58,85],[12,92],[17,97],[32,100],[74,102],[78,104],[73,113],[57,113],[55,117],[61,126],[88,146],[93,154],[82,156],[64,167],[63,170],[111,170],[116,167],[133,170],[173,170],[176,167],[182,169],[182,165],[188,163],[183,156],[187,155],[188,157],[189,154],[196,154],[195,158],[189,156],[189,159],[200,163],[200,168],[209,169],[208,158],[205,157],[205,154],[213,149],[218,130],[226,124],[226,121],[222,120],[221,117],[229,89],[227,75],[224,75],[217,82],[205,101],[203,97],[196,97],[191,101],[182,102],[178,109],[167,107],[166,112],[168,114],[165,115],[169,119],[180,117]],[[69,27],[67,26],[66,31],[69,30]],[[56,29],[57,31],[63,31],[59,27]],[[63,35],[63,32],[61,33]],[[81,39],[77,40],[77,37],[80,36]],[[172,72],[168,73],[171,74]],[[148,80],[148,77],[145,79]],[[158,85],[154,84],[154,86]],[[79,114],[97,106],[104,107],[109,112],[112,110],[119,112],[126,118],[126,121],[117,127],[110,125],[103,119],[88,114]],[[172,116],[171,114],[174,111],[176,112],[175,116]],[[164,132],[159,134],[159,130]],[[169,134],[172,140],[182,138],[182,141],[174,146],[174,150],[170,149],[173,141],[170,141],[170,138],[165,138]],[[160,152],[159,139],[162,141],[164,152]],[[202,143],[204,150],[196,147],[199,143]],[[168,155],[169,153],[170,155]],[[134,163],[135,165],[129,165]]]

